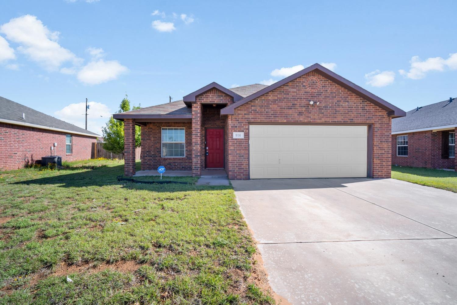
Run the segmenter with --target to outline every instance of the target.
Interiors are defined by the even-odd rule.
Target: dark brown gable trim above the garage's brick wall
[[[288,82],[295,80],[296,78],[298,78],[302,75],[305,75],[311,71],[316,71],[320,75],[328,78],[329,80],[334,81],[335,83],[339,84],[340,86],[345,87],[349,91],[352,91],[352,92],[356,93],[357,95],[362,96],[367,101],[370,101],[373,104],[387,110],[388,115],[390,117],[397,118],[397,117],[405,116],[405,112],[403,110],[401,110],[400,108],[393,106],[391,103],[384,101],[379,96],[376,96],[376,95],[372,94],[371,92],[363,89],[362,87],[357,86],[353,82],[346,80],[345,78],[341,77],[340,75],[336,74],[335,72],[321,66],[320,64],[313,64],[313,65],[309,66],[308,68],[298,71],[297,73],[292,74],[283,80],[280,80],[266,88],[263,88],[260,91],[257,91],[255,93],[251,94],[250,96],[244,97],[242,100],[235,102],[228,107],[223,108],[221,110],[221,114],[234,114],[235,108],[237,108],[241,105],[244,105],[245,103],[250,102],[250,101],[254,100],[255,98],[262,96],[284,84],[287,84]]]

